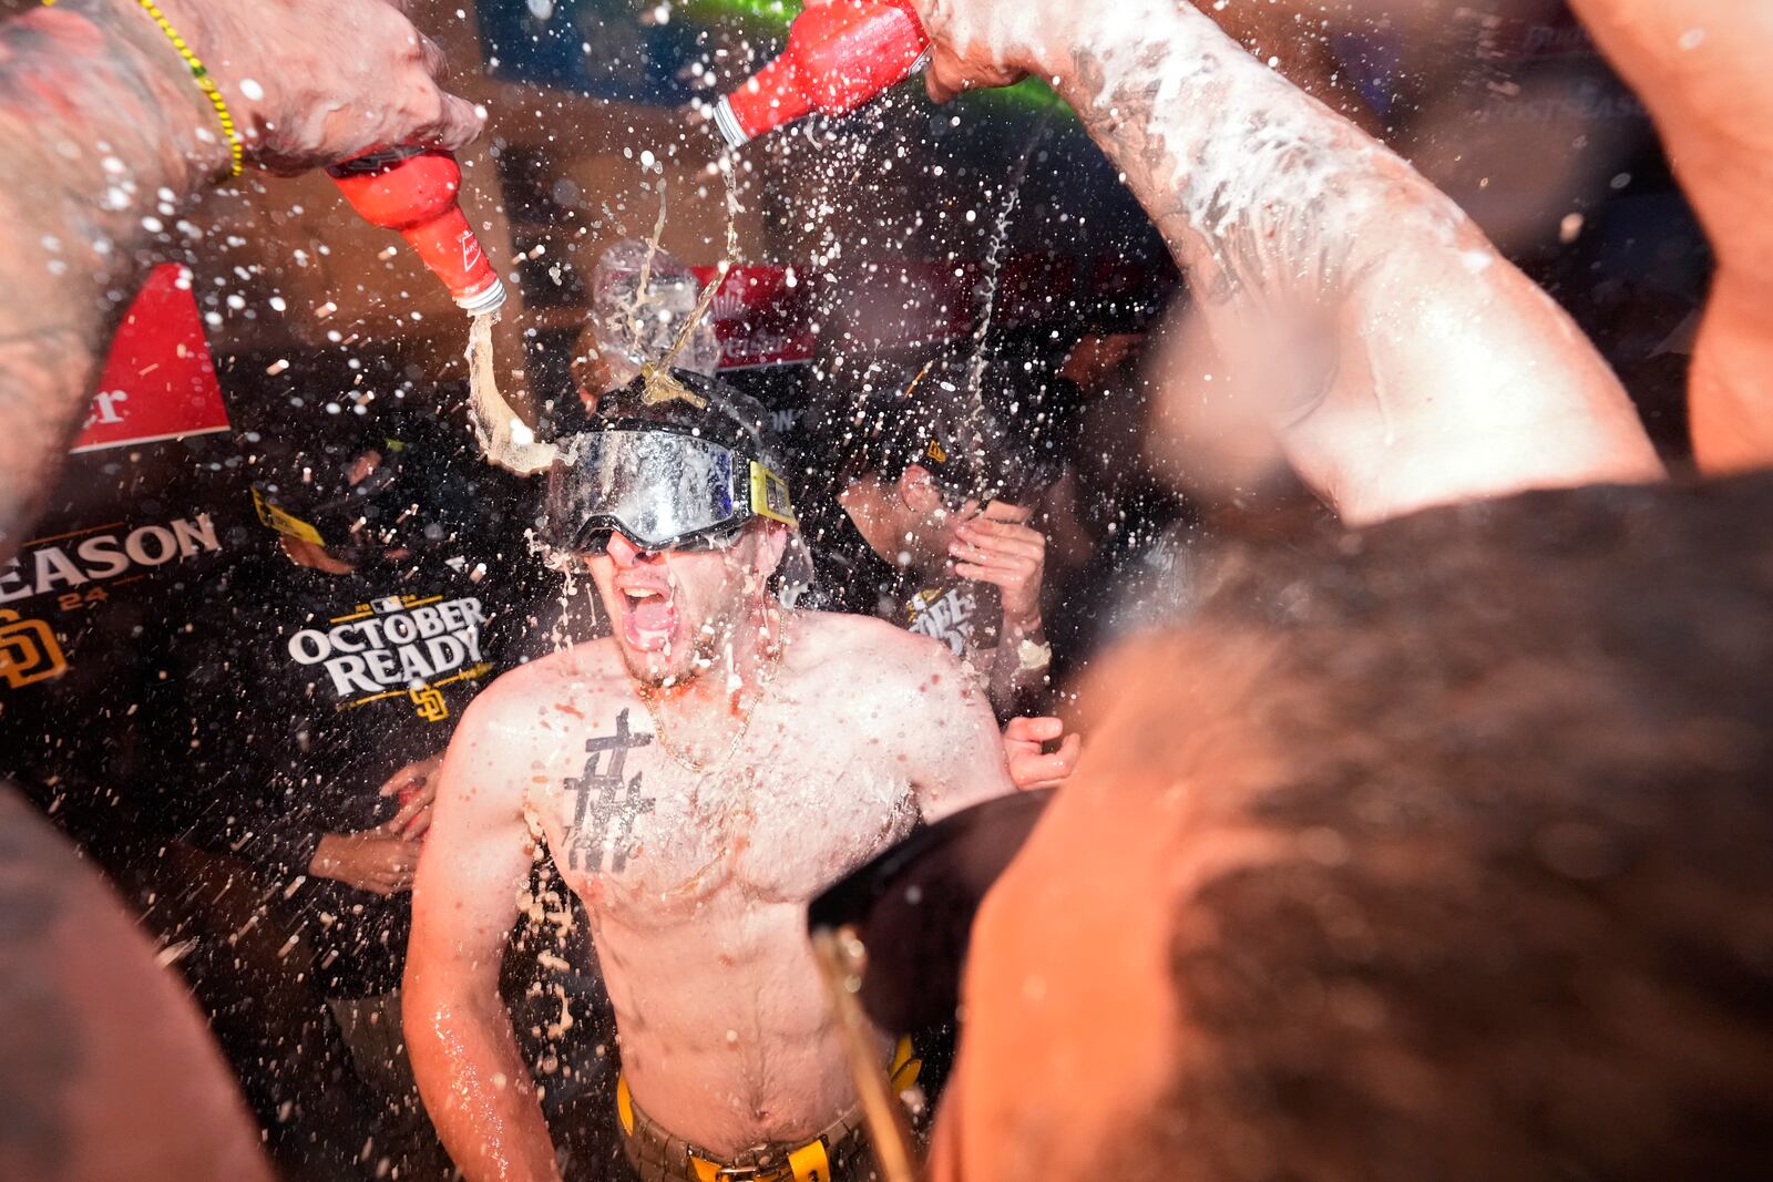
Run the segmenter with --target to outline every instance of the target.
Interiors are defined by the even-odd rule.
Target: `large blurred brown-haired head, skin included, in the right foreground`
[[[980,913],[941,1180],[1773,1161],[1773,478],[1234,562]]]

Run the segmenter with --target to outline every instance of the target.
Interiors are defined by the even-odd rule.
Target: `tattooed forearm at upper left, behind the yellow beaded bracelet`
[[[206,117],[135,0],[62,0],[0,25],[0,560],[48,494],[167,214],[225,170]]]

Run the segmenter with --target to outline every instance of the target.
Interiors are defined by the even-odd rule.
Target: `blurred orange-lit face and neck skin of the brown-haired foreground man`
[[[1278,847],[1239,815],[1275,769],[1246,721],[1269,652],[1165,634],[1087,684],[1094,743],[973,927],[931,1182],[1099,1177],[1128,1115],[1177,1070],[1175,911]]]

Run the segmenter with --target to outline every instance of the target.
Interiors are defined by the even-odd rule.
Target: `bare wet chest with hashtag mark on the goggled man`
[[[798,904],[911,828],[897,755],[855,728],[761,712],[730,757],[697,771],[644,709],[624,709],[546,789],[543,829],[599,920],[660,927]]]

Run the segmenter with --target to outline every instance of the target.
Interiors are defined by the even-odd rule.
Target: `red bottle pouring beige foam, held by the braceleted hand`
[[[463,312],[480,315],[505,303],[505,285],[456,204],[461,165],[454,156],[390,147],[333,165],[326,175],[365,222],[399,230]]]

